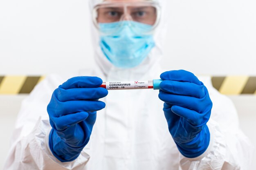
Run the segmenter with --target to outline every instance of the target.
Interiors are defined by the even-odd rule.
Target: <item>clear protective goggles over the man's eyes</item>
[[[131,28],[135,28],[141,23],[149,25],[150,29],[146,29],[144,33],[152,32],[160,18],[160,7],[157,2],[152,1],[128,1],[119,0],[115,2],[103,2],[93,9],[93,21],[95,26],[101,31],[101,24],[114,23],[115,28],[111,32],[118,31],[122,23],[130,23]],[[120,22],[126,21],[126,22]],[[132,22],[129,22],[132,21]],[[111,33],[110,32],[110,33]]]

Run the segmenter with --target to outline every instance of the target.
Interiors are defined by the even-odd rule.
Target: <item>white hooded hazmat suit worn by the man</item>
[[[164,12],[162,1],[159,4]],[[99,2],[91,0],[91,9]],[[130,69],[112,66],[101,52],[99,35],[93,28],[97,65],[70,75],[50,75],[34,88],[22,103],[4,170],[249,170],[252,146],[239,129],[234,105],[213,88],[210,77],[199,77],[213,102],[207,123],[210,144],[199,157],[190,159],[180,154],[168,131],[159,92],[153,90],[110,91],[101,99],[106,108],[97,112],[90,141],[74,161],[62,163],[49,150],[52,127],[47,104],[54,89],[70,77],[93,75],[103,81],[159,78],[164,72],[159,65],[164,17],[154,34],[155,48],[142,64]]]

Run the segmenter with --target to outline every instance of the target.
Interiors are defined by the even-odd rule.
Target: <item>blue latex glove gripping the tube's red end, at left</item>
[[[98,77],[73,77],[60,85],[47,106],[52,130],[49,148],[62,162],[73,161],[90,139],[96,111],[105,108],[98,99],[108,95]]]

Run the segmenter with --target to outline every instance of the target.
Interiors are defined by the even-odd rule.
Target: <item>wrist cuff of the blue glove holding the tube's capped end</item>
[[[207,150],[210,143],[210,132],[207,126],[188,143],[179,144],[175,142],[180,153],[187,158],[195,158],[204,153]]]

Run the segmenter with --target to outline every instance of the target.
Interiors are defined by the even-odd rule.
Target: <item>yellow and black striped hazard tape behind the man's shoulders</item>
[[[44,76],[0,76],[0,95],[28,94]],[[225,95],[256,95],[256,77],[211,77],[213,87]]]

